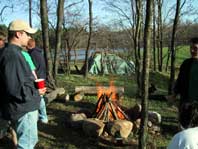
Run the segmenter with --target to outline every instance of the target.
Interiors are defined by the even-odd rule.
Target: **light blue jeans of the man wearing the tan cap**
[[[38,110],[28,112],[17,121],[12,121],[17,134],[17,149],[34,149],[38,142]]]

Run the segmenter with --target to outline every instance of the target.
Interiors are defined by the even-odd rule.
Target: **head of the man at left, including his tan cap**
[[[26,47],[31,34],[36,33],[33,29],[23,20],[14,20],[8,27],[8,42],[16,44],[21,47]]]

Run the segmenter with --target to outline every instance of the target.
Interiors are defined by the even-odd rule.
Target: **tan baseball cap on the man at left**
[[[30,34],[34,34],[37,31],[37,29],[31,28],[27,22],[23,20],[19,20],[19,19],[10,22],[8,30],[9,31],[25,31]]]

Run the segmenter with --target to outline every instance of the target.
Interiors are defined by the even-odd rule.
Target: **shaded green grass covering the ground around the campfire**
[[[167,48],[164,48],[164,55],[167,54]],[[179,68],[184,59],[190,57],[189,46],[177,48],[176,67]],[[164,65],[167,57],[164,58]],[[157,87],[156,94],[167,95],[169,73],[150,72],[150,82]],[[125,89],[124,100],[122,102],[125,107],[132,107],[136,103],[140,103],[140,99],[136,99],[136,81],[135,76],[97,76],[90,75],[85,79],[81,75],[58,75],[59,87],[64,87],[68,94],[73,94],[75,86],[88,85],[96,86],[109,85],[110,81],[114,81],[114,85],[123,86]],[[47,107],[49,115],[49,124],[39,124],[39,143],[36,149],[78,149],[78,148],[118,148],[113,144],[103,144],[98,138],[90,138],[85,136],[82,130],[73,129],[67,126],[66,119],[68,113],[80,110],[93,111],[97,102],[96,96],[85,96],[82,102],[69,101],[66,103],[54,101]],[[161,134],[159,136],[149,135],[149,140],[157,145],[157,147],[166,147],[170,139],[178,130],[177,108],[168,105],[166,101],[149,100],[149,110],[157,111],[162,115]],[[129,139],[135,136],[130,135]],[[137,137],[137,136],[136,136]],[[130,147],[128,147],[130,148]]]

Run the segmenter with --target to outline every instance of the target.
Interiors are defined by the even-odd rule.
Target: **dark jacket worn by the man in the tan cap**
[[[21,48],[8,44],[0,50],[0,105],[7,120],[18,120],[39,109],[40,95]]]

